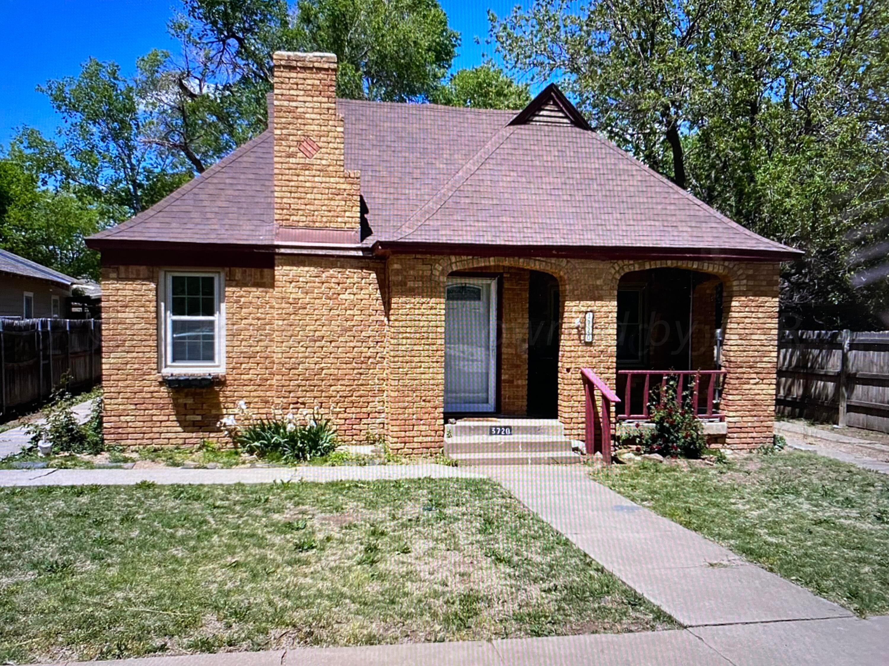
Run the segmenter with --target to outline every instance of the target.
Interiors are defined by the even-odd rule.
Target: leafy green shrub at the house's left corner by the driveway
[[[74,416],[75,400],[67,391],[53,395],[44,409],[45,422],[28,425],[31,445],[45,441],[52,444],[53,453],[97,454],[105,450],[102,436],[104,402],[101,394],[93,403],[89,418],[78,424]]]

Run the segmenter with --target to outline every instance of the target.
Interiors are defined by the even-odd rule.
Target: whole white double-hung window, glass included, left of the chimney
[[[222,276],[164,274],[164,371],[221,372],[224,367]]]

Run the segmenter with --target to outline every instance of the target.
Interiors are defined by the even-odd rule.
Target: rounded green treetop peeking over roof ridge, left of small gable
[[[449,107],[520,109],[531,101],[529,87],[514,82],[501,69],[485,63],[454,73],[429,101]]]

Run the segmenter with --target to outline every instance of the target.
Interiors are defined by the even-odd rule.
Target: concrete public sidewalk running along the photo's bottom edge
[[[101,666],[883,666],[889,617],[557,638],[189,654]],[[72,662],[73,663],[73,662]],[[83,662],[81,662],[83,663]]]

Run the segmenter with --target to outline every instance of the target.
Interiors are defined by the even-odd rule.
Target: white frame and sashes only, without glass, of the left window
[[[212,277],[215,279],[216,335],[213,348],[214,361],[189,361],[173,363],[172,359],[172,278]],[[165,269],[157,281],[157,340],[160,371],[164,375],[220,375],[225,373],[225,275],[222,271]],[[177,320],[208,320],[209,317],[177,316]]]

